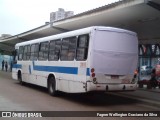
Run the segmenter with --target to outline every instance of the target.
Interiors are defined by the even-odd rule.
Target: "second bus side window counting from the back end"
[[[61,60],[62,61],[74,60],[76,46],[77,46],[77,38],[76,37],[64,38],[62,40]]]

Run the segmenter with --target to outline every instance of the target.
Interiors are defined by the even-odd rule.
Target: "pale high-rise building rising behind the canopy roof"
[[[63,8],[59,8],[58,11],[50,13],[50,22],[64,19],[73,15],[73,11],[65,11]]]

